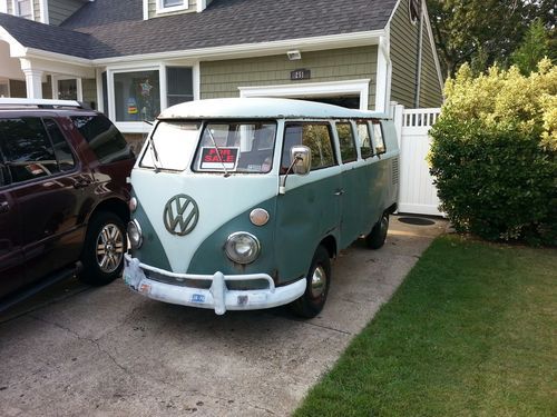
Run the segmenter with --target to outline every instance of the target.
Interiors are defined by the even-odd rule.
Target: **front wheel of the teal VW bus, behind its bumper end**
[[[313,318],[321,312],[331,287],[331,260],[329,251],[319,246],[313,255],[312,265],[307,272],[305,292],[292,302],[292,310],[305,318]]]

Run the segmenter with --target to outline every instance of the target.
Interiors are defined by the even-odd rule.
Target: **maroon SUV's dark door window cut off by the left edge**
[[[59,172],[55,150],[40,118],[0,120],[0,148],[13,182]]]

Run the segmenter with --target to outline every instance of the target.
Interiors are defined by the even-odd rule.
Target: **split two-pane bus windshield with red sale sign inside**
[[[192,170],[196,172],[266,173],[273,163],[275,137],[274,121],[162,121],[140,166],[182,171],[195,152]]]

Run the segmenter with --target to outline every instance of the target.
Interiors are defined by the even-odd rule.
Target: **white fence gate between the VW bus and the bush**
[[[442,216],[438,209],[437,188],[433,186],[426,160],[431,146],[428,131],[441,110],[402,110],[401,107],[397,107],[399,117],[395,117],[395,122],[398,121],[397,128],[400,129],[399,211]]]

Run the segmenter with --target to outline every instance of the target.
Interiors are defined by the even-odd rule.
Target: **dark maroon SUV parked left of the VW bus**
[[[0,99],[0,298],[79,261],[91,285],[120,274],[134,161],[101,113]]]

